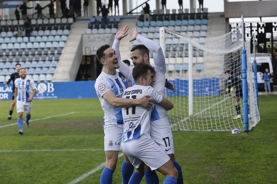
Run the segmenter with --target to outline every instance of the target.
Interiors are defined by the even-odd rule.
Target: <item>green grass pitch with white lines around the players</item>
[[[6,121],[10,103],[0,102],[1,184],[100,183],[104,113],[98,99],[35,100],[24,135],[18,134],[16,110]],[[261,121],[247,134],[173,131],[184,183],[276,183],[276,104],[277,95],[259,96]],[[122,161],[120,152],[113,184],[121,184]]]

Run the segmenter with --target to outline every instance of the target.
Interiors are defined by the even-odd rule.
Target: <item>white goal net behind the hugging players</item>
[[[166,77],[175,92],[167,89],[174,108],[169,111],[173,131],[243,130],[243,100],[235,105],[237,84],[228,87],[226,70],[242,78],[242,27],[213,38],[191,38],[160,28],[160,44],[166,56]],[[254,74],[250,60],[250,41],[245,42],[247,56],[248,127],[260,121]],[[229,78],[230,79],[230,78]],[[229,80],[230,81],[230,80]],[[230,83],[229,83],[230,84]],[[238,112],[241,118],[238,117]]]

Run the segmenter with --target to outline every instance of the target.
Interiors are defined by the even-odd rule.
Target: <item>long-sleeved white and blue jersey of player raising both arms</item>
[[[153,40],[145,38],[138,34],[136,38],[141,44],[145,45],[150,51],[153,51],[154,64],[152,65],[156,71],[155,82],[153,83],[153,88],[155,88],[162,96],[166,96],[166,61],[162,48],[160,45]],[[119,71],[122,72],[128,79],[133,78],[133,70],[128,67],[122,60],[119,52],[119,40],[114,40],[112,48],[119,62]],[[155,116],[156,120],[167,116],[166,109],[161,105],[156,105],[158,116]]]

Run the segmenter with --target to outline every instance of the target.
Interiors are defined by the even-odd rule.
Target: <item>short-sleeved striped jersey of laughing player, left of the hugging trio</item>
[[[111,90],[117,98],[121,98],[123,91],[128,87],[125,76],[120,72],[116,72],[116,75],[102,72],[96,79],[94,87],[104,111],[104,125],[123,124],[121,108],[115,108],[107,103],[103,95]]]

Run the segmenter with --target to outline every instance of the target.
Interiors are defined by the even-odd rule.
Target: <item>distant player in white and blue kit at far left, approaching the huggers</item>
[[[15,79],[14,97],[16,99],[16,111],[18,114],[17,123],[19,127],[18,133],[23,135],[23,112],[26,112],[26,124],[30,127],[29,120],[31,118],[32,101],[35,97],[36,87],[33,79],[26,78],[26,69],[19,70],[20,78]]]

